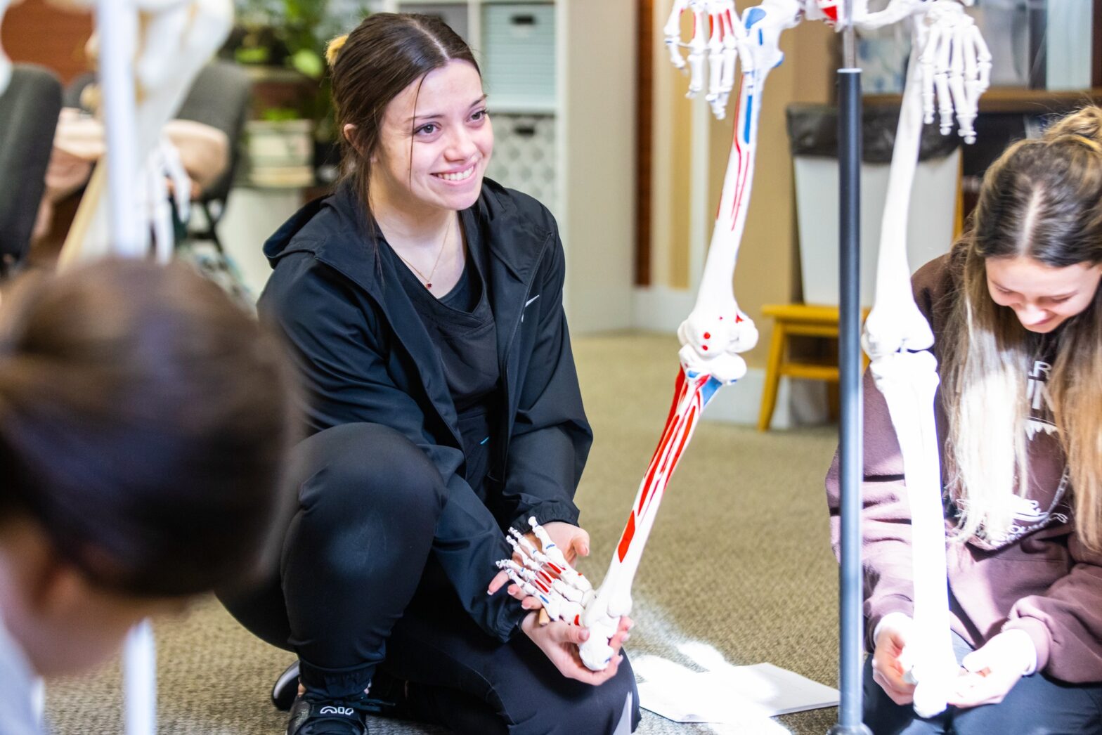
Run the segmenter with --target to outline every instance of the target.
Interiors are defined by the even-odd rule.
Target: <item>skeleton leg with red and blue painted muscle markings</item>
[[[699,11],[706,8],[707,3],[703,2],[678,3],[674,15],[684,10]],[[620,616],[631,610],[631,582],[638,570],[642,549],[666,486],[692,439],[704,407],[722,386],[735,382],[746,374],[746,363],[739,353],[752,349],[757,344],[757,328],[738,309],[732,289],[732,277],[749,206],[760,93],[769,71],[784,58],[777,45],[780,33],[799,21],[800,8],[801,4],[795,1],[766,0],[760,7],[748,10],[742,21],[732,12],[732,23],[724,26],[732,30],[731,37],[739,39],[738,53],[743,66],[738,115],[727,173],[696,304],[678,329],[682,343],[679,353],[681,371],[670,413],[639,485],[604,583],[592,598],[584,588],[566,585],[576,597],[571,599],[554,585],[560,579],[555,576],[555,570],[549,570],[533,554],[528,554],[529,558],[523,563],[529,574],[511,569],[514,582],[526,592],[536,590],[539,593],[536,596],[545,601],[549,614],[558,613],[559,617],[571,621],[580,618],[582,625],[590,628],[590,638],[580,647],[580,653],[582,661],[593,670],[607,666],[612,656],[608,640],[616,633]],[[698,22],[698,31],[700,25]],[[676,20],[671,20],[667,28],[677,28]],[[714,28],[713,25],[713,31]],[[672,45],[671,50],[676,51]],[[702,75],[703,72],[699,74]],[[722,73],[720,77],[722,79]],[[504,566],[509,568],[509,564],[505,563]],[[539,579],[542,587],[536,585],[532,577]],[[580,616],[577,605],[582,606]]]

